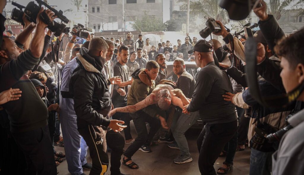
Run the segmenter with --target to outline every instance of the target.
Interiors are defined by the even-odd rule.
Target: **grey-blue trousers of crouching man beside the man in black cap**
[[[199,112],[192,112],[190,115],[183,114],[181,110],[175,112],[171,131],[174,136],[179,149],[181,150],[181,155],[190,156],[188,142],[185,137],[185,132],[199,119]]]

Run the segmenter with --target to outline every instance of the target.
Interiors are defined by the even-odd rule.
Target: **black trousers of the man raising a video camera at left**
[[[53,143],[47,125],[28,132],[12,133],[12,136],[25,155],[26,174],[57,174]]]

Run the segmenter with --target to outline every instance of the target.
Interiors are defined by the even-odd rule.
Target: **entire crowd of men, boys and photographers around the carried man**
[[[0,0],[1,14],[5,4]],[[293,92],[304,80],[304,29],[285,35],[267,14],[266,3],[261,4],[253,9],[259,17],[254,41],[261,94]],[[247,145],[250,175],[304,171],[304,122],[280,142],[260,143],[257,133],[260,128],[265,133],[282,129],[287,118],[301,113],[302,89],[297,101],[285,107],[261,105],[246,80],[246,39],[233,36],[220,21],[221,30],[213,34],[222,36],[225,46],[189,34],[183,44],[178,39],[178,45],[166,41],[155,46],[149,38],[143,41],[142,34],[135,41],[131,32],[125,40],[93,33],[83,39],[76,30],[56,37],[41,13],[50,21],[56,18],[43,8],[36,24],[24,15],[18,36],[5,31],[0,15],[6,32],[0,39],[0,173],[57,174],[65,158],[73,175],[85,174],[83,169],[103,175],[109,164],[111,175],[123,175],[121,163],[140,168],[134,154],[151,152],[156,142],[180,150],[174,163],[192,162],[185,132],[198,119],[204,122],[197,138],[201,174],[228,173],[236,151]],[[168,79],[168,61],[176,79]],[[195,76],[187,71],[187,61],[196,63]],[[131,121],[137,136],[131,134]],[[130,146],[123,150],[125,144]],[[64,147],[64,153],[54,146]],[[86,160],[88,149],[92,164]],[[215,170],[219,156],[226,160]]]

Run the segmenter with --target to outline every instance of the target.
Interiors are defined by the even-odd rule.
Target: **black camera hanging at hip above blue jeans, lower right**
[[[254,131],[255,134],[250,140],[250,148],[254,148],[262,152],[275,151],[272,143],[268,142],[267,136],[271,133],[277,132],[277,128],[269,125],[268,123],[258,123]]]

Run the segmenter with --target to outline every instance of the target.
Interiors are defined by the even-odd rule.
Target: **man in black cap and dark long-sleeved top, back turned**
[[[214,64],[211,48],[211,43],[202,39],[188,52],[194,52],[195,63],[201,70],[192,100],[183,108],[184,113],[199,110],[201,119],[207,123],[197,139],[202,174],[216,174],[213,164],[237,131],[235,106],[222,98],[226,92],[233,92],[232,85],[226,72]]]

